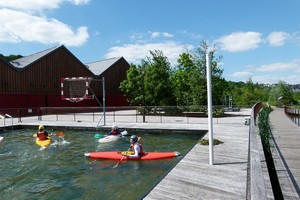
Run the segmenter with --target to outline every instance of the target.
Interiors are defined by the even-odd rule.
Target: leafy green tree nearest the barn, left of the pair
[[[141,65],[130,65],[120,89],[130,105],[175,105],[170,62],[162,51],[150,51],[150,55],[141,61]]]

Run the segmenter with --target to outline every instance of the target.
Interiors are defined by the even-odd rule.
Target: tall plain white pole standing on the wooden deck
[[[209,131],[209,164],[214,164],[214,136],[212,120],[212,90],[211,90],[211,67],[210,51],[206,52],[206,76],[207,76],[207,113],[208,113],[208,131]]]

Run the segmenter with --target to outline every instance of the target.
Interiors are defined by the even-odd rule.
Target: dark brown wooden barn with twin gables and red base
[[[106,106],[126,106],[119,85],[128,69],[123,57],[83,64],[63,45],[11,62],[0,58],[0,109],[98,106],[96,99],[62,100],[61,78],[66,77],[92,77],[90,89],[101,104],[104,77]]]

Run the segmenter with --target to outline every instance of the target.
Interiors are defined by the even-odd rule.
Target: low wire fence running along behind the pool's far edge
[[[189,112],[186,107],[38,107],[22,109],[0,109],[1,113],[11,113],[11,118],[0,119],[0,126],[37,121],[105,123],[177,123],[206,124],[204,111]],[[220,109],[221,107],[218,107]],[[247,108],[245,108],[247,110]],[[248,112],[245,112],[248,113]],[[214,123],[241,123],[224,120],[227,116],[244,116],[243,109],[229,110],[222,115],[213,115]],[[242,122],[243,123],[243,122]]]

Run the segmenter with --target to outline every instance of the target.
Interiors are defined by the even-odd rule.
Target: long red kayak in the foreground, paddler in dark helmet
[[[85,153],[84,155],[89,158],[95,158],[95,159],[109,159],[109,160],[120,160],[122,159],[123,155],[126,154],[132,154],[132,152],[118,152],[118,151],[112,151],[112,152],[90,152]],[[129,158],[127,156],[123,157],[123,160],[159,160],[159,159],[168,159],[168,158],[174,158],[176,156],[179,156],[179,152],[147,152],[144,156],[140,158]]]

